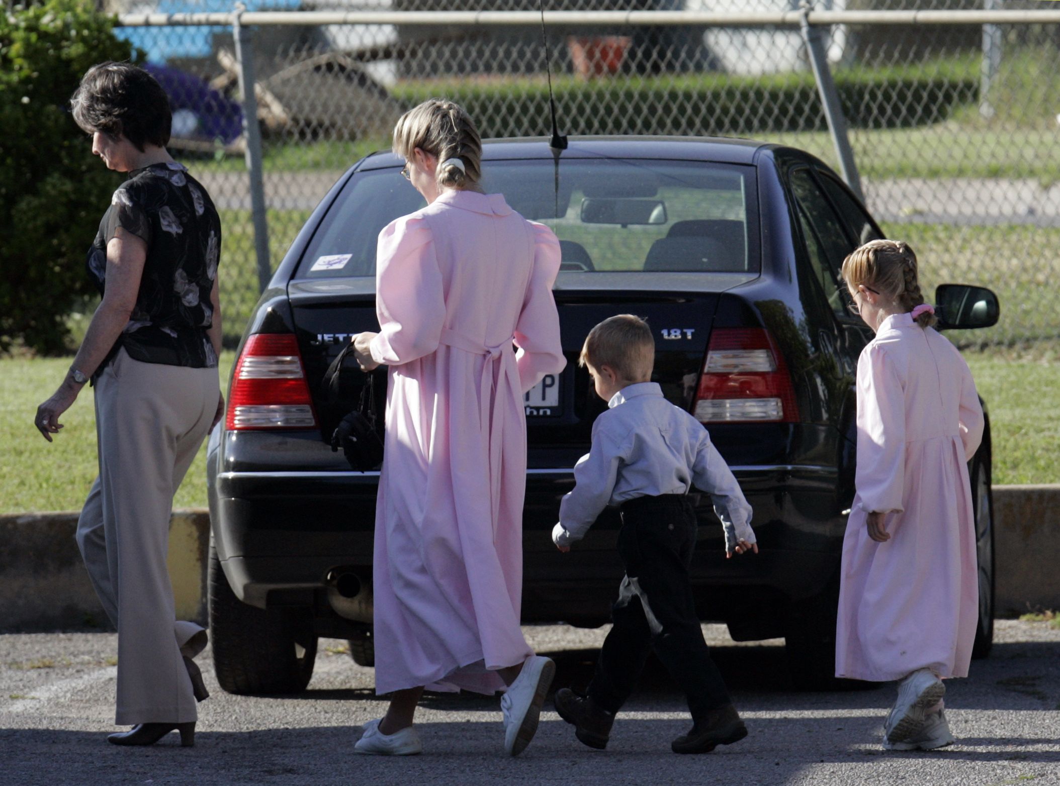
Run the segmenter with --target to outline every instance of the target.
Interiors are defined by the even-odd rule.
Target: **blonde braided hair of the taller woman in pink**
[[[475,121],[459,104],[428,99],[398,120],[393,151],[407,160],[417,147],[438,157],[435,177],[440,189],[481,191],[482,140]],[[463,163],[463,169],[455,160]]]

